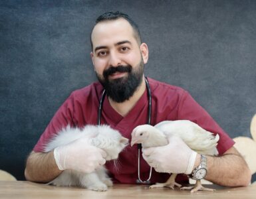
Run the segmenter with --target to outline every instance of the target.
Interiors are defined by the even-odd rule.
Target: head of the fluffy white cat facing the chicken
[[[108,125],[98,126],[98,135],[92,139],[92,145],[106,151],[106,161],[118,158],[119,153],[128,145],[128,139]]]

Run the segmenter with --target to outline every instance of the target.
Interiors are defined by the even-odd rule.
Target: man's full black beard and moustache
[[[96,76],[100,84],[102,84],[103,88],[106,90],[108,97],[113,101],[121,103],[129,100],[137,90],[138,86],[140,86],[142,83],[143,70],[144,63],[142,60],[135,68],[132,68],[130,65],[110,66],[110,68],[104,70],[103,77],[97,73]],[[108,76],[115,72],[127,72],[128,76],[109,80]]]

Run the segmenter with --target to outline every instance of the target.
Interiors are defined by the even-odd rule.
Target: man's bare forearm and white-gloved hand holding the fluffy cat
[[[88,138],[82,137],[48,153],[33,151],[27,159],[25,177],[34,182],[49,182],[66,169],[92,172],[106,163],[105,157],[105,151],[90,145]]]

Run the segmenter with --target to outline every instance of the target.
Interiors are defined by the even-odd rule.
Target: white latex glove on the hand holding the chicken
[[[191,174],[197,153],[175,135],[168,137],[169,144],[142,149],[142,156],[157,172]]]

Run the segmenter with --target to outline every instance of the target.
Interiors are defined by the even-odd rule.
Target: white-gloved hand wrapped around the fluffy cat
[[[88,173],[106,163],[106,152],[90,145],[86,137],[55,148],[54,157],[60,170],[73,169]]]

